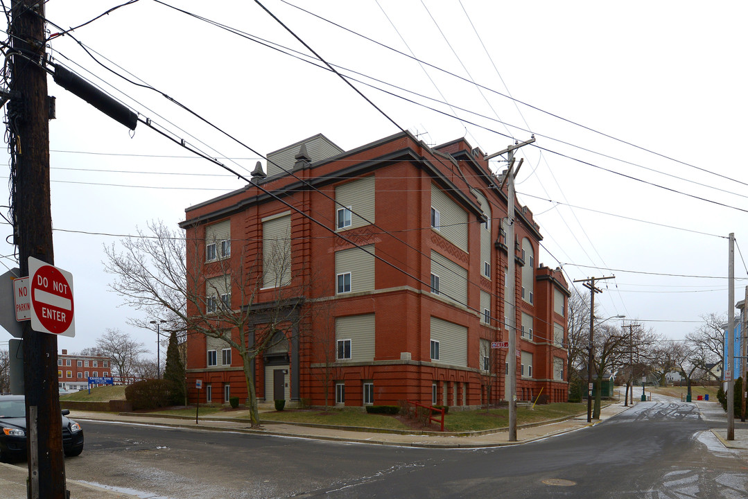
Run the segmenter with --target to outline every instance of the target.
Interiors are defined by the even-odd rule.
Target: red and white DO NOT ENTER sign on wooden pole
[[[40,333],[75,337],[73,275],[28,257],[31,328]]]

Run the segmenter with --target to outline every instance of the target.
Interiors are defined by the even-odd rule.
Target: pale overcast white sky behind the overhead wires
[[[119,3],[50,0],[46,16],[70,28]],[[492,153],[535,133],[536,144],[521,150],[525,164],[517,190],[545,237],[538,262],[555,267],[560,260],[570,280],[616,275],[601,282],[604,293],[596,297],[601,317],[622,313],[681,338],[703,314],[726,312],[730,232],[748,258],[748,233],[741,226],[748,174],[739,150],[748,132],[744,1],[304,2],[325,19],[393,49],[411,50],[491,91],[432,68],[424,71],[409,58],[283,1],[263,4],[331,64],[485,116],[455,110],[473,125],[451,116],[446,105],[404,90],[388,88],[446,115],[355,84],[428,144],[467,135],[470,144]],[[254,2],[178,5],[308,53]],[[53,25],[49,30],[60,31]],[[174,97],[262,154],[319,132],[345,150],[398,132],[330,72],[153,0],[122,7],[73,34],[106,66]],[[176,136],[191,144],[203,141],[208,144],[199,146],[203,150],[215,148],[212,156],[236,159],[230,165],[245,174],[260,159],[156,92],[105,70],[70,37],[57,37],[51,47],[55,61]],[[59,348],[77,351],[92,346],[105,328],[120,328],[146,343],[155,357],[155,334],[126,325],[137,312],[121,307],[120,297],[108,291],[102,245],[119,238],[96,233],[133,234],[153,219],[176,227],[186,206],[238,189],[244,181],[186,157],[186,150],[142,124],[131,138],[124,126],[58,88],[51,77],[49,94],[57,97],[57,119],[50,123],[55,263],[73,273],[76,292],[76,337],[61,337]],[[7,153],[0,156],[7,163]],[[7,198],[7,188],[3,195]],[[9,226],[0,227],[10,234]],[[2,244],[1,254],[13,254]],[[13,266],[8,258],[1,261]],[[743,278],[737,301],[748,284],[737,251],[735,274]],[[0,347],[8,338],[0,332]]]

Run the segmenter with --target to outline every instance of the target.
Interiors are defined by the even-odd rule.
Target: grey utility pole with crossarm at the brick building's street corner
[[[507,391],[509,392],[509,441],[517,441],[517,319],[515,317],[515,287],[517,286],[516,269],[515,269],[515,189],[514,181],[517,172],[522,168],[522,159],[520,159],[517,169],[514,169],[514,152],[520,147],[524,147],[527,144],[532,144],[535,141],[535,135],[533,135],[529,141],[517,142],[514,145],[507,147],[498,153],[490,154],[484,157],[486,161],[502,154],[507,154],[507,160],[509,162],[509,168],[506,170],[506,175],[502,180],[499,191],[503,189],[503,183],[506,182],[506,261],[507,261],[507,272],[506,281],[508,286],[506,287],[506,297],[504,298],[504,311],[509,324],[506,325],[509,328],[509,349],[506,352],[506,362],[508,364],[507,370],[509,371],[506,376],[509,384]]]

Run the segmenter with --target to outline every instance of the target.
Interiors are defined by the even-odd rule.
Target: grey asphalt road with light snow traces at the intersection
[[[532,444],[439,450],[85,423],[67,476],[142,498],[748,497],[748,456],[695,405],[642,402]]]

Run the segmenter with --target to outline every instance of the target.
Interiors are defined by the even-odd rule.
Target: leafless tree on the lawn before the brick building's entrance
[[[289,238],[263,246],[254,259],[245,248],[204,263],[206,241],[186,242],[182,233],[162,222],[148,225],[150,233],[122,239],[121,250],[105,248],[105,269],[115,276],[110,287],[126,304],[147,316],[161,316],[183,324],[188,334],[223,340],[242,358],[247,404],[252,426],[260,426],[252,361],[266,349],[287,343],[306,319],[301,286],[292,286]],[[187,251],[191,252],[188,267]],[[262,259],[262,261],[258,261]],[[266,279],[274,281],[263,286]],[[298,279],[297,281],[303,281]],[[263,287],[263,301],[258,295]],[[272,296],[269,296],[272,294]]]

